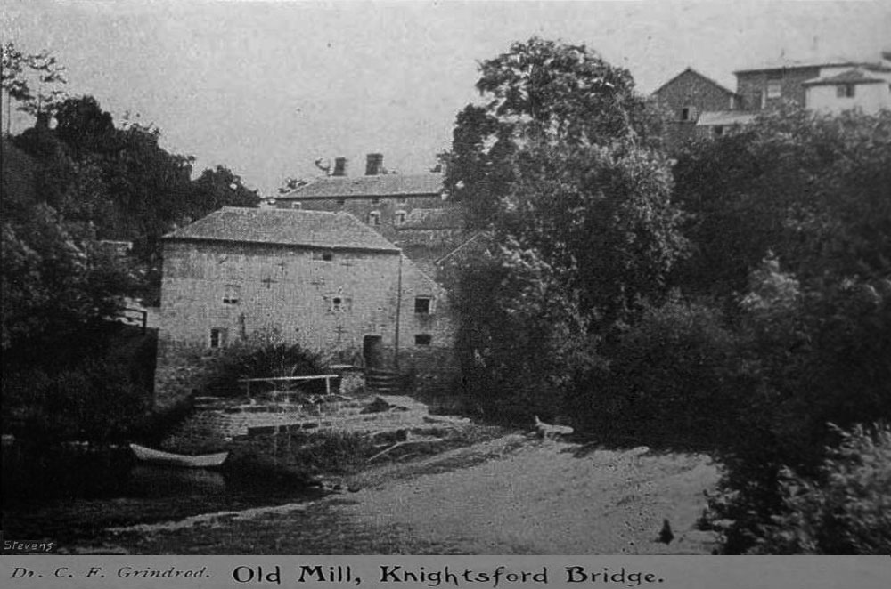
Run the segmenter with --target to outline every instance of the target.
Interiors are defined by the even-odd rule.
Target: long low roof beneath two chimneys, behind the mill
[[[329,176],[291,190],[276,199],[437,196],[442,190],[441,173]]]

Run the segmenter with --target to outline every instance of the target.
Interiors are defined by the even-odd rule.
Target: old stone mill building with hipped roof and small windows
[[[445,290],[351,214],[225,207],[164,238],[159,406],[196,386],[196,354],[268,330],[403,371],[445,369],[453,346]]]

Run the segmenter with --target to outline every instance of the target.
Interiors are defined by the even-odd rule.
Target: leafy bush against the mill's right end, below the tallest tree
[[[457,297],[467,404],[495,420],[554,416],[595,360],[585,321],[535,250],[493,249],[464,270]]]

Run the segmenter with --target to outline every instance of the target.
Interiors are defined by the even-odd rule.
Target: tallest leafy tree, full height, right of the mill
[[[446,157],[488,233],[454,286],[462,375],[482,407],[559,414],[683,254],[659,115],[584,45],[536,37],[479,70]]]

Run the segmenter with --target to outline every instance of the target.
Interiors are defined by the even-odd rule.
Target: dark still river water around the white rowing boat
[[[103,528],[321,496],[299,480],[268,472],[141,464],[128,448],[7,447],[2,470],[4,537],[62,545],[88,540]]]

